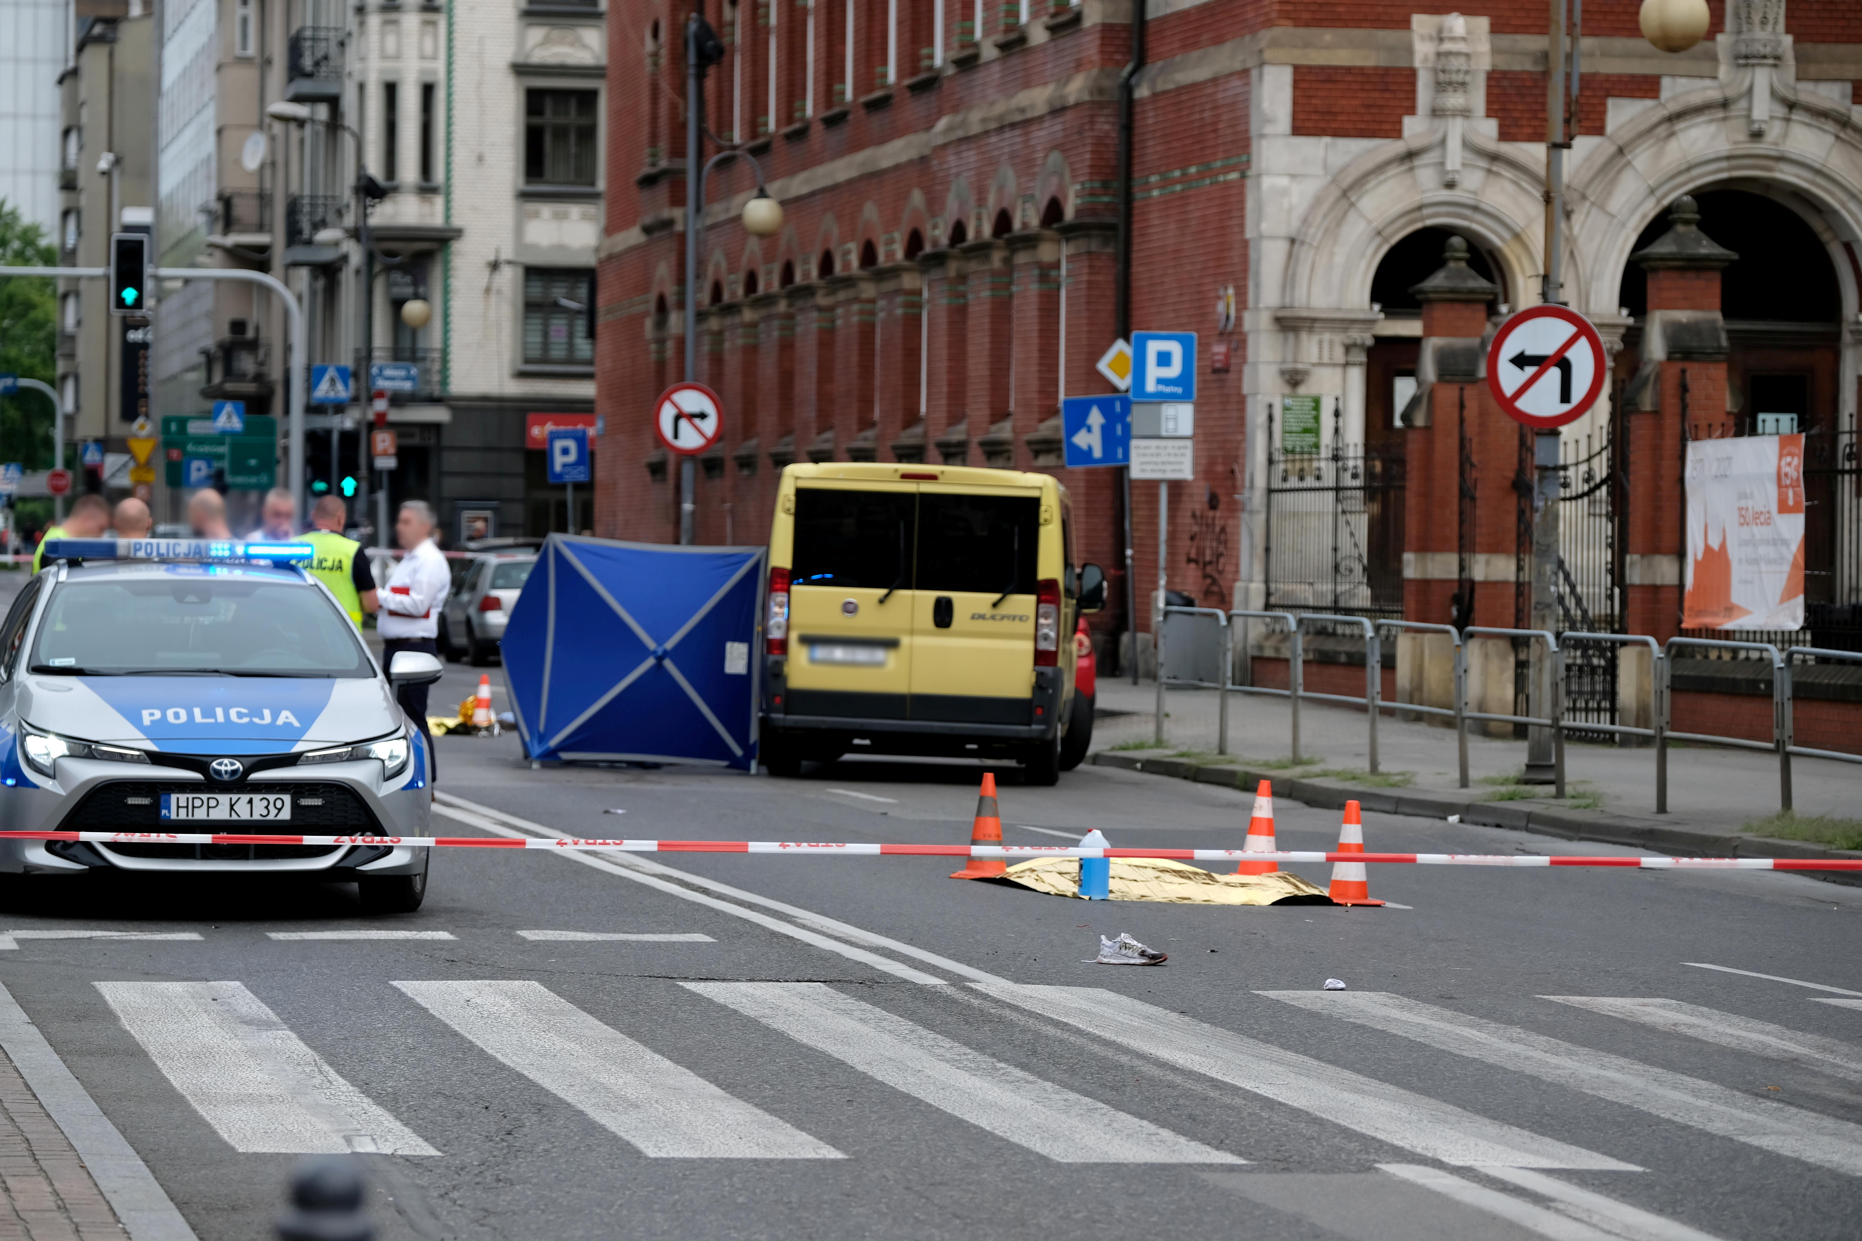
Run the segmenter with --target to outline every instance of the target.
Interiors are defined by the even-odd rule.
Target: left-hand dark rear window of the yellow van
[[[795,491],[795,586],[909,590],[918,497],[909,491]]]

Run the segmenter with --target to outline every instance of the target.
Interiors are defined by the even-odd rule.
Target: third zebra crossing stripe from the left
[[[821,982],[680,986],[1058,1163],[1246,1163]]]

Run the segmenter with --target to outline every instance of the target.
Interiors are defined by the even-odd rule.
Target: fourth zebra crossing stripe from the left
[[[981,986],[996,999],[1194,1074],[1287,1103],[1380,1142],[1458,1167],[1639,1168],[1452,1103],[1089,986]]]

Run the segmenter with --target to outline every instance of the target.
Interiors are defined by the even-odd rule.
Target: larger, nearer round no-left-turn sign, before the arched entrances
[[[1581,419],[1603,393],[1603,337],[1562,305],[1519,311],[1488,346],[1488,391],[1514,422],[1553,430]]]

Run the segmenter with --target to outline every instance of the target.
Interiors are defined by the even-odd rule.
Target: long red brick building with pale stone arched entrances
[[[683,367],[680,30],[693,2],[611,0],[594,528],[614,538],[678,532],[678,469],[648,419]],[[1640,417],[1611,406],[1648,361],[1659,374],[1644,376],[1637,407],[1666,430],[1644,435],[1633,465],[1672,476],[1676,363],[1644,342],[1657,285],[1681,301],[1724,288],[1724,307],[1693,307],[1724,309],[1724,350],[1702,359],[1717,380],[1693,378],[1691,419],[1737,428],[1793,413],[1853,445],[1862,6],[1711,0],[1711,33],[1678,56],[1640,37],[1637,9],[1583,11],[1566,300],[1627,352],[1612,398],[1566,428],[1568,456],[1596,454],[1612,419]],[[763,538],[788,461],[1059,471],[1059,398],[1108,391],[1093,363],[1117,326],[1132,4],[702,0],[702,11],[726,43],[706,86],[711,132],[749,143],[788,218],[780,236],[749,236],[737,223],[749,164],[713,173],[691,294],[698,374],[728,426],[700,461],[698,541]],[[1514,588],[1510,515],[1475,523],[1477,536],[1426,517],[1454,514],[1467,469],[1484,471],[1484,504],[1508,495],[1510,426],[1475,437],[1471,467],[1437,445],[1430,460],[1447,465],[1411,471],[1408,499],[1372,495],[1367,478],[1410,452],[1398,415],[1430,380],[1410,290],[1441,268],[1445,240],[1465,238],[1469,268],[1493,287],[1473,314],[1437,316],[1454,335],[1478,337],[1540,300],[1545,47],[1536,0],[1465,15],[1382,0],[1149,0],[1132,91],[1130,324],[1201,333],[1197,478],[1171,487],[1173,588],[1207,605],[1383,614],[1408,594],[1428,612],[1413,620],[1449,620],[1458,586],[1473,599],[1480,582]],[[1670,227],[1683,193],[1739,259],[1717,281],[1650,283],[1629,255]],[[1445,435],[1443,391],[1432,404]],[[1289,448],[1287,394],[1320,396],[1320,454]],[[1618,428],[1616,443],[1639,434]],[[1080,551],[1119,599],[1117,471],[1059,473],[1082,514]],[[1302,480],[1313,489],[1300,493]],[[1132,499],[1143,601],[1156,487]],[[1668,519],[1640,519],[1648,530],[1609,553],[1614,616],[1635,612],[1629,588],[1680,580]]]

